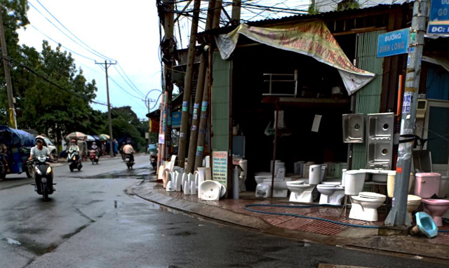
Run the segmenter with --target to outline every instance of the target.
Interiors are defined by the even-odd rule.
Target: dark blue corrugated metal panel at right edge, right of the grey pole
[[[435,100],[449,100],[449,72],[436,65],[427,69],[426,97]]]

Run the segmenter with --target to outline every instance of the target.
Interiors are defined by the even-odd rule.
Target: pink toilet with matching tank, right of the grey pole
[[[424,212],[431,215],[436,226],[443,226],[441,217],[449,210],[449,200],[429,199],[440,191],[441,174],[416,173],[415,195],[422,197]]]

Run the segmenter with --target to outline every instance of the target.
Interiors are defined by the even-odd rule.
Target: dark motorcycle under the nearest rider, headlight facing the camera
[[[43,201],[48,201],[48,195],[53,194],[55,189],[53,185],[53,168],[51,168],[50,157],[48,156],[37,156],[29,161],[29,165],[34,167],[34,191],[42,195]]]

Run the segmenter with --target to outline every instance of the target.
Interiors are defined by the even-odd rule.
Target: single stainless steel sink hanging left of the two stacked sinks
[[[364,114],[343,114],[343,142],[363,143],[365,136]]]

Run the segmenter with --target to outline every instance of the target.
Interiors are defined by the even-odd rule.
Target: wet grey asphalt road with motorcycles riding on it
[[[43,202],[25,175],[0,181],[0,267],[447,267],[302,243],[161,208],[123,190],[147,178],[148,156],[54,168]]]

